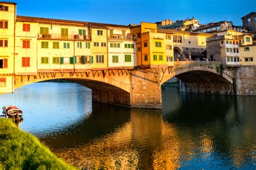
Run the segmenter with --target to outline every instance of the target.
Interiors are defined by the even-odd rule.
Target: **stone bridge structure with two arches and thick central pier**
[[[97,69],[84,72],[38,72],[16,75],[15,88],[30,83],[68,79],[92,89],[95,101],[137,108],[161,108],[161,84],[177,76],[186,83],[186,91],[233,94],[232,78],[221,74],[219,62],[179,61],[174,66],[155,68]],[[198,85],[198,86],[197,86]]]

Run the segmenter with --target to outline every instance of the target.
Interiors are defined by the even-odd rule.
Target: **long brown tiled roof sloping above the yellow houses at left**
[[[107,29],[109,27],[119,27],[123,29],[125,28],[129,29],[127,25],[82,22],[77,20],[65,20],[65,19],[53,19],[53,18],[41,18],[41,17],[17,16],[16,20],[19,22],[36,22],[41,24],[92,26],[94,28],[100,28],[100,29]]]

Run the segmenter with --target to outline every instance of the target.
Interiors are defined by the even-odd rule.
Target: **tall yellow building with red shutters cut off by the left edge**
[[[0,2],[0,94],[14,91],[16,3]]]

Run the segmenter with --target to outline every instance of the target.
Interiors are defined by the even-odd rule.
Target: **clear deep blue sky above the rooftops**
[[[11,1],[11,0],[9,0]],[[17,15],[80,20],[109,24],[156,23],[161,20],[192,18],[200,24],[231,20],[242,25],[241,17],[256,12],[256,0],[12,0]]]

